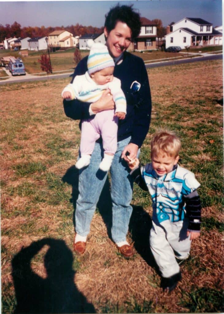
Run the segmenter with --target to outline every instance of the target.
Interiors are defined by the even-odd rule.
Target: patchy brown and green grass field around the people
[[[158,127],[181,137],[181,165],[201,183],[202,228],[181,264],[170,295],[149,251],[151,202],[134,186],[124,259],[108,236],[109,181],[94,214],[84,256],[73,253],[79,121],[63,112],[69,78],[1,86],[2,313],[223,312],[223,86],[222,61],[148,70],[150,131],[140,161],[150,156]]]

